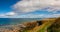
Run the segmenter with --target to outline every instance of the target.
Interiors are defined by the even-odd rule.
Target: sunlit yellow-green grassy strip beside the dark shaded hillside
[[[55,22],[55,19],[45,19],[44,21],[46,22],[41,26],[36,26],[34,29],[31,30],[24,30],[24,32],[46,32],[47,28]]]

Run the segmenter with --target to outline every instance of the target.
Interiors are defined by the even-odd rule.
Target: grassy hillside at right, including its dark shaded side
[[[24,32],[60,32],[60,18],[45,19],[45,23],[36,26],[34,29],[25,30]]]

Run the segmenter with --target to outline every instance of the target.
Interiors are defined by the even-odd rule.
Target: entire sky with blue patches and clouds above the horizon
[[[0,18],[60,17],[60,0],[0,0]]]

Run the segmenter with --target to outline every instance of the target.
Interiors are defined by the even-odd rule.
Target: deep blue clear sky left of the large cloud
[[[0,0],[0,13],[12,11],[11,6],[20,0]]]

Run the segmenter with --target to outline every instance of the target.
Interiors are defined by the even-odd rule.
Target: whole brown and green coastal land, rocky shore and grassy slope
[[[7,26],[6,28],[0,28],[0,32],[48,32],[47,29],[53,32],[60,31],[60,18],[47,18],[40,21]]]

